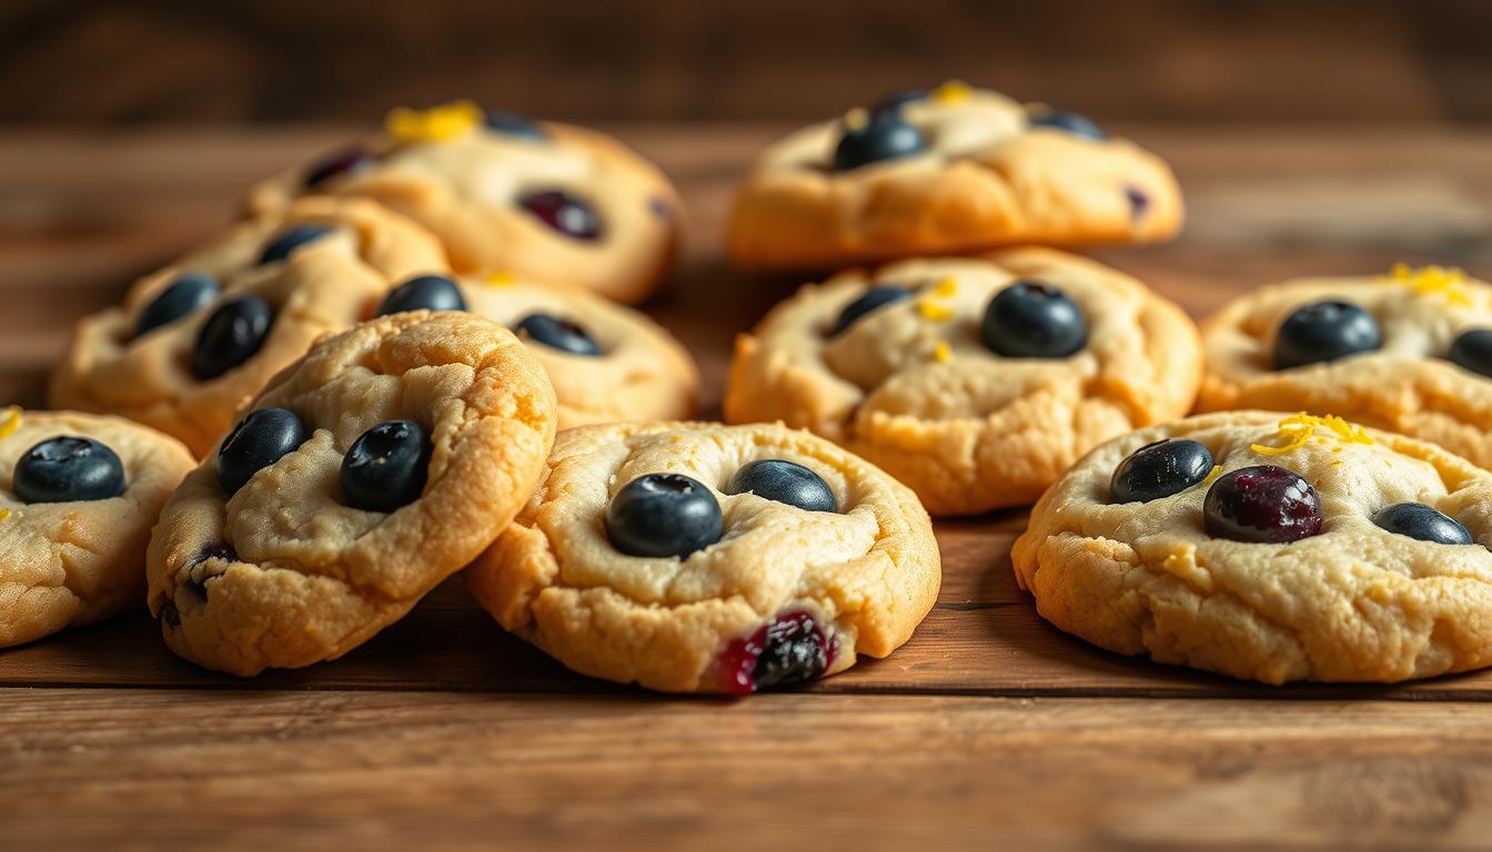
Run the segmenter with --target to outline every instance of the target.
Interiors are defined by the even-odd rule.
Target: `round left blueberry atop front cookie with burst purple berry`
[[[628,482],[606,510],[612,546],[633,557],[685,558],[721,540],[721,504],[682,473],[649,473]]]

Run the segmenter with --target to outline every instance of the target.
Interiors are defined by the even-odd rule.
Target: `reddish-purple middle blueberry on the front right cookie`
[[[1325,518],[1310,482],[1261,464],[1219,476],[1203,501],[1203,521],[1209,536],[1283,545],[1320,533]]]

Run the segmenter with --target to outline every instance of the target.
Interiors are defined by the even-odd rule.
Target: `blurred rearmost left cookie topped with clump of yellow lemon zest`
[[[257,187],[254,210],[361,195],[410,216],[463,273],[500,272],[642,301],[679,240],[679,195],[615,139],[461,101],[398,109],[385,131]]]

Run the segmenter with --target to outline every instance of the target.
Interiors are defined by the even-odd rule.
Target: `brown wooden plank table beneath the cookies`
[[[733,181],[782,128],[616,127],[680,184],[689,248],[651,310],[718,410],[733,333],[797,279],[721,258]],[[1492,273],[1492,134],[1122,128],[1191,224],[1100,252],[1203,315],[1298,273]],[[78,315],[227,222],[336,128],[0,136],[0,398],[37,403]],[[1016,589],[1024,513],[938,525],[913,640],[803,692],[668,698],[570,674],[460,582],[346,658],[237,680],[133,613],[0,654],[0,849],[1483,846],[1492,674],[1270,689],[1106,654]]]

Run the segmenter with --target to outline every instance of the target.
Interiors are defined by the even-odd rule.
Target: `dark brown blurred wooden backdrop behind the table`
[[[1106,121],[1489,122],[1482,0],[6,0],[0,125],[798,121],[964,78]]]

